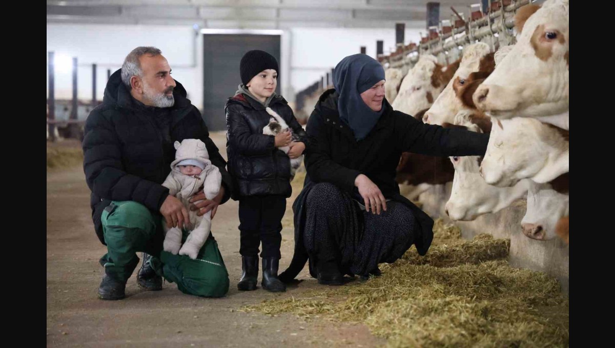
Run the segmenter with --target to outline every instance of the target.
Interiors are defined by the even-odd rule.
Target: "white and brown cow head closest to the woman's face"
[[[457,71],[459,63],[460,60],[457,60],[442,66],[433,55],[421,55],[415,66],[403,77],[399,93],[391,106],[415,117],[419,111],[429,109]]]

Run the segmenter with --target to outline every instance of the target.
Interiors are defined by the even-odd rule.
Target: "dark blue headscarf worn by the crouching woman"
[[[373,111],[361,99],[361,93],[381,80],[384,80],[382,65],[362,53],[349,55],[333,70],[333,85],[339,93],[339,118],[352,129],[357,141],[370,133],[383,114],[384,108]]]

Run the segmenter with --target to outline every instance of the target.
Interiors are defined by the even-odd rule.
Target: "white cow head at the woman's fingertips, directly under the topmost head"
[[[548,183],[568,173],[568,143],[568,130],[530,117],[494,121],[480,165],[482,176],[500,187],[525,178]]]

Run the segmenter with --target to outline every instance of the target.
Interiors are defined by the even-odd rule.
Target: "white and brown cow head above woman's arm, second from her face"
[[[455,115],[462,109],[467,108],[457,97],[456,89],[460,89],[466,84],[470,74],[482,71],[488,75],[493,69],[493,53],[490,53],[488,44],[478,42],[466,47],[463,50],[459,68],[442,93],[434,101],[434,105],[424,114],[423,122],[440,125],[445,122],[453,124]],[[484,79],[485,76],[482,78]]]

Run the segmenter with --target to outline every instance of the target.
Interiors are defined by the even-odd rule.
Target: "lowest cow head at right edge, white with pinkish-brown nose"
[[[555,191],[550,184],[530,184],[528,207],[521,220],[523,234],[531,239],[554,239],[558,221],[568,216],[568,202],[568,194]]]

